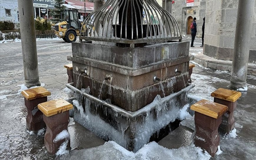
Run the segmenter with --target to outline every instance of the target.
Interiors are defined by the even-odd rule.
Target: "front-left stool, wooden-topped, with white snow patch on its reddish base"
[[[38,109],[44,114],[43,118],[46,124],[44,146],[49,154],[55,154],[64,143],[67,145],[66,149],[70,149],[68,123],[69,110],[72,108],[72,104],[62,99],[38,105]]]

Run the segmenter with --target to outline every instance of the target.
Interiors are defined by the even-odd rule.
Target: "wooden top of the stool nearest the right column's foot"
[[[230,101],[230,102],[235,102],[237,101],[238,98],[241,97],[241,92],[237,92],[234,90],[227,90],[224,88],[219,88],[212,92],[211,96],[215,98],[219,98],[222,100]]]

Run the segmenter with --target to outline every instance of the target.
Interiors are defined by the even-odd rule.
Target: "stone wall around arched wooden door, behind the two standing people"
[[[195,14],[193,13],[194,10]],[[172,5],[172,15],[178,21],[182,35],[187,34],[188,18],[191,16],[192,18],[197,18],[197,37],[202,36],[202,25],[205,10],[206,0],[195,0],[194,6],[192,7],[187,7],[186,0],[175,1],[175,3]]]

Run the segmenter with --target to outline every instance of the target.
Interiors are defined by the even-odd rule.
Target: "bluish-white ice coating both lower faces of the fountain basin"
[[[73,105],[76,108],[74,110],[75,121],[92,131],[97,136],[103,139],[114,140],[126,148],[127,142],[129,142],[130,139],[129,136],[124,135],[124,132],[129,127],[129,118],[126,118],[121,114],[117,114],[107,107],[91,102],[85,97],[82,98],[82,96],[79,95],[74,95],[74,97],[77,97],[77,100],[73,100]],[[85,105],[84,107],[80,104],[80,102],[83,100]],[[139,117],[137,117],[141,117],[142,121],[136,121],[137,118],[135,118],[136,123],[134,130],[136,132],[134,133],[134,151],[138,151],[144,144],[147,144],[150,137],[155,132],[159,133],[159,130],[168,125],[170,122],[174,122],[175,119],[184,119],[185,117],[190,116],[187,112],[189,105],[185,105],[181,108],[180,104],[176,103],[176,98],[164,104],[161,102],[162,99],[158,95],[152,102],[152,104],[156,105],[156,108],[149,110],[149,107],[144,107],[143,112],[145,112],[145,114],[139,115]],[[109,102],[107,101],[106,103]],[[115,119],[119,126],[113,127],[109,123],[105,122],[101,117],[99,117],[99,115],[92,114],[92,108],[90,108],[90,104],[93,105],[93,108],[96,111],[97,108],[101,108],[101,110],[104,112],[104,115],[106,116],[111,114],[110,116]],[[121,131],[117,130],[118,127],[120,127]]]

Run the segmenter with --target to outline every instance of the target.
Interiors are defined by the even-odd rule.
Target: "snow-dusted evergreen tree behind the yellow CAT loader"
[[[64,4],[63,0],[55,0],[55,9],[52,11],[53,21],[54,23],[58,23],[61,21],[61,13],[64,13],[65,6],[62,6]]]

